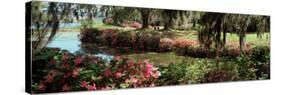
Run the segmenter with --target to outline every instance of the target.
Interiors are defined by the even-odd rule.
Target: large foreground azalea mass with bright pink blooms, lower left
[[[32,82],[34,93],[150,87],[161,75],[148,60],[135,62],[115,57],[105,62],[95,56],[72,55],[62,51],[55,51],[50,56],[49,61],[44,60],[45,63],[32,63],[35,66],[45,64],[45,68],[33,70],[46,72],[33,74],[37,77]]]

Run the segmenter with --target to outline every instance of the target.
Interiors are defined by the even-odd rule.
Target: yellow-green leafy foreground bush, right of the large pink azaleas
[[[188,60],[188,59],[187,59]],[[194,84],[202,83],[205,75],[214,67],[208,60],[195,59],[189,62],[169,64],[160,67],[160,85]]]

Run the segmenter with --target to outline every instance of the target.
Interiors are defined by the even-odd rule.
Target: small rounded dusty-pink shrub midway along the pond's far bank
[[[175,42],[170,38],[160,39],[159,49],[161,51],[171,51],[174,48]]]

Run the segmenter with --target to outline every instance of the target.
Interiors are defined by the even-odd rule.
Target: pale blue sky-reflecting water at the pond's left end
[[[107,61],[113,58],[113,54],[106,53],[102,47],[89,43],[81,45],[79,34],[80,32],[58,32],[47,47],[60,48],[71,53],[93,54]]]

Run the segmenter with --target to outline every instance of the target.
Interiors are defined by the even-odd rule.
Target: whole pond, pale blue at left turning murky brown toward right
[[[92,54],[103,60],[110,61],[114,56],[128,57],[135,61],[149,59],[155,64],[178,63],[193,58],[178,56],[174,52],[138,52],[128,48],[116,49],[106,46],[97,46],[95,44],[81,43],[79,39],[80,32],[58,32],[53,40],[47,44],[47,47],[60,48],[71,53]]]

